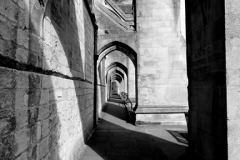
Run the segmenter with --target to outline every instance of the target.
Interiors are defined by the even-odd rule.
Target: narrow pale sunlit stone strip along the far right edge
[[[240,3],[225,0],[228,159],[240,157]],[[226,151],[225,151],[226,152]]]

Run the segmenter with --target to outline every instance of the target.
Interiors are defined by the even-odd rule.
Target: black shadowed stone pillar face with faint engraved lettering
[[[234,52],[229,48],[228,53],[226,53],[228,58],[225,59],[224,12],[224,1],[186,1],[190,109],[189,146],[207,160],[228,159],[227,119],[229,120],[231,116],[226,117],[225,69],[226,60],[230,60],[228,58],[233,58],[233,61],[237,58],[232,56],[236,54],[233,54]],[[234,26],[234,24],[229,26]],[[227,31],[230,30],[227,29]],[[230,33],[232,33],[231,36],[235,36],[234,31],[228,32],[227,35],[230,36]],[[233,67],[233,64],[231,63],[230,66]],[[233,68],[236,66],[234,65]],[[231,92],[232,83],[229,84],[229,91]],[[233,92],[236,96],[235,91]],[[230,95],[229,100],[234,97],[230,92],[228,93]],[[229,106],[230,110],[231,107]],[[234,112],[236,113],[236,110]],[[229,125],[230,128],[236,126],[235,123]],[[234,135],[235,129],[231,130],[233,132],[230,130],[228,131],[229,135]],[[236,139],[233,141],[236,142]],[[234,144],[237,143],[235,142]],[[232,147],[236,146],[239,145]],[[239,147],[236,149],[239,150]],[[237,153],[236,150],[231,150],[231,152]],[[238,158],[239,156],[236,156],[233,159]]]

